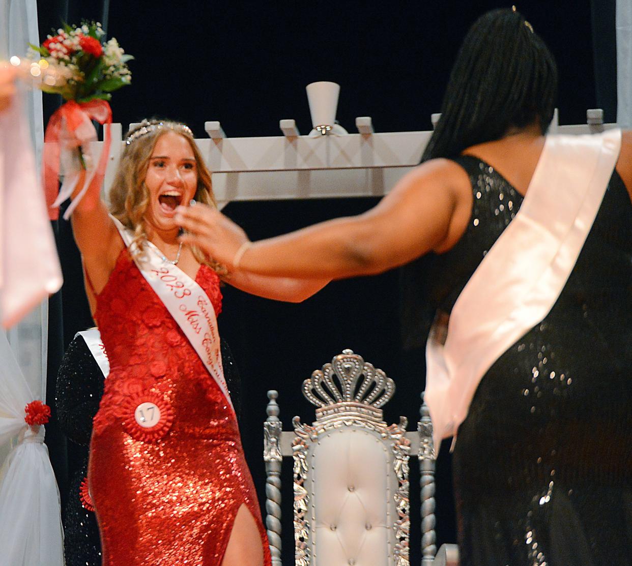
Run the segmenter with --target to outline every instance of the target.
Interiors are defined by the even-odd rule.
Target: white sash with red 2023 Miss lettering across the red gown
[[[134,238],[132,232],[116,218],[111,218],[129,249]],[[138,270],[191,342],[191,346],[200,356],[205,368],[226,397],[228,406],[234,412],[222,368],[217,318],[209,296],[183,270],[173,263],[164,262],[160,257],[162,253],[154,244],[148,241],[146,245],[152,253],[138,257],[130,249],[130,255]]]

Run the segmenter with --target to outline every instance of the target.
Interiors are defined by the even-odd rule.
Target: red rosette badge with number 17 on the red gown
[[[123,428],[130,437],[142,442],[156,442],[164,437],[174,414],[171,403],[155,392],[137,393],[123,404]]]

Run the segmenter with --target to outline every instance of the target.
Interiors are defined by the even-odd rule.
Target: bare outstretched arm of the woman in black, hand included
[[[176,222],[195,244],[231,270],[291,278],[371,275],[427,253],[449,250],[470,218],[468,177],[454,162],[429,161],[406,175],[365,214],[329,220],[248,244],[240,227],[216,210],[182,207]],[[238,266],[234,266],[238,255]],[[235,268],[237,267],[237,269]]]

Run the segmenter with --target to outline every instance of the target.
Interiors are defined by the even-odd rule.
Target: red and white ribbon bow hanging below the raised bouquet
[[[68,100],[61,105],[51,116],[44,134],[44,191],[46,193],[46,205],[49,210],[49,218],[57,220],[59,210],[57,207],[69,198],[78,181],[80,167],[73,169],[73,152],[82,146],[88,147],[90,141],[97,139],[97,133],[92,125],[92,120],[99,124],[112,123],[112,109],[106,100],[90,100],[90,102],[75,102]],[[96,169],[89,171],[83,190],[73,200],[66,210],[64,218],[68,219],[82,196],[90,186],[92,179],[102,177],[107,166],[107,157],[110,153],[111,132],[105,129],[103,148]],[[59,191],[60,162],[64,163],[64,183]]]

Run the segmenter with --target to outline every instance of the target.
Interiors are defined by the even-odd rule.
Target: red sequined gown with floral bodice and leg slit
[[[196,281],[219,313],[217,274],[203,265]],[[88,471],[104,566],[220,566],[242,504],[269,565],[233,411],[127,250],[97,298],[96,318],[111,368]],[[124,423],[147,393],[170,404],[173,422],[162,438],[143,442]]]

